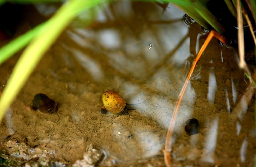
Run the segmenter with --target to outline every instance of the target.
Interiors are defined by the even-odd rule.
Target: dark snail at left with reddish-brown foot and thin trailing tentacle
[[[57,103],[48,98],[45,94],[39,93],[34,96],[34,99],[29,105],[26,105],[26,109],[30,111],[36,111],[39,110],[42,113],[52,113],[55,112],[57,115],[58,105]],[[59,115],[58,115],[59,117]],[[60,117],[59,117],[60,119]],[[59,121],[58,119],[58,121]],[[57,122],[58,122],[57,121]]]

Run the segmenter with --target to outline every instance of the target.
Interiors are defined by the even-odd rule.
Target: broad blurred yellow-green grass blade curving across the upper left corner
[[[0,120],[33,72],[37,63],[78,13],[107,0],[70,0],[49,19],[16,63],[0,99]]]

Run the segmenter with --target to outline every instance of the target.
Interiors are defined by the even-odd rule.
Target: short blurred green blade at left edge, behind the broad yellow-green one
[[[25,47],[38,33],[42,26],[43,23],[20,35],[16,39],[10,41],[8,44],[0,48],[0,65],[13,54],[17,53],[20,49]]]

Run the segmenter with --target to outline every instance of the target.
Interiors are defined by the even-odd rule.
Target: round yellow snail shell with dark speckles
[[[124,111],[126,101],[118,93],[109,90],[103,93],[100,105],[102,106],[102,109],[116,114]]]

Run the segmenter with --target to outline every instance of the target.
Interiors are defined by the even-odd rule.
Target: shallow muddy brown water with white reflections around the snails
[[[183,15],[170,4],[163,12],[154,3],[119,1],[105,5],[87,28],[74,21],[9,107],[0,124],[2,157],[72,166],[92,144],[105,155],[99,166],[164,166],[162,149],[187,64],[205,40]],[[19,54],[0,66],[2,85]],[[253,166],[254,91],[237,61],[236,50],[216,39],[202,55],[176,119],[173,166]],[[146,101],[129,106],[135,109],[130,117],[101,114],[97,104],[106,90],[129,104]],[[58,122],[55,113],[26,110],[37,93],[57,101]],[[199,133],[189,136],[191,118]],[[30,149],[26,156],[24,149]]]

